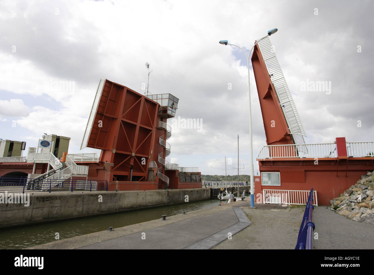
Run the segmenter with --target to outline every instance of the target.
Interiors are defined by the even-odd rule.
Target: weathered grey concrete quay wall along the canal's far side
[[[116,213],[210,198],[203,188],[147,191],[85,191],[30,194],[30,205],[0,204],[0,228]]]

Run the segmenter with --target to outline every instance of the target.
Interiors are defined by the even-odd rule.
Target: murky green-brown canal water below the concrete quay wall
[[[211,208],[218,204],[220,204],[220,201],[215,198],[142,210],[104,214],[94,217],[51,221],[27,226],[7,227],[0,229],[0,249],[22,249],[32,247],[56,241],[56,233],[59,233],[59,239],[67,239],[103,231],[108,229],[109,226],[113,226],[115,229],[130,224],[161,219],[161,215],[163,214],[169,217],[181,214],[183,211],[186,211],[187,213],[203,208]]]

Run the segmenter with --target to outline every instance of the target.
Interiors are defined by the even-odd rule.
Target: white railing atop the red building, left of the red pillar
[[[284,144],[264,146],[257,159],[337,158],[335,143]]]

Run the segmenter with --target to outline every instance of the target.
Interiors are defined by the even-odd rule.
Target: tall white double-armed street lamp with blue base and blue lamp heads
[[[273,33],[276,33],[278,31],[277,28],[274,28],[270,31],[267,32],[267,36],[264,36],[260,39],[257,40],[257,42],[253,45],[252,49],[249,51],[248,55],[247,53],[239,46],[237,45],[234,45],[234,44],[229,44],[229,42],[227,40],[221,40],[220,41],[220,44],[223,44],[223,45],[231,45],[231,46],[235,46],[239,49],[241,49],[246,58],[247,58],[247,68],[248,68],[248,94],[249,94],[249,144],[250,144],[250,150],[249,150],[249,154],[251,155],[251,207],[254,207],[254,198],[255,198],[255,195],[254,195],[254,171],[253,171],[253,144],[252,144],[252,109],[251,109],[251,83],[249,81],[249,56],[251,56],[251,52],[253,50],[253,48],[257,45],[258,42],[260,42],[261,40],[263,40],[264,38],[268,37],[268,36],[271,36]]]

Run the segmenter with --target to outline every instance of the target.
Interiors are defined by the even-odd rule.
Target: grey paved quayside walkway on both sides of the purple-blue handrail
[[[218,204],[218,201],[217,201]],[[304,207],[234,202],[29,249],[294,249]],[[249,218],[249,219],[248,219]],[[315,207],[315,249],[372,248],[374,225]],[[232,238],[229,238],[232,236]]]

